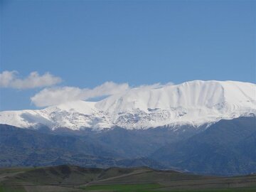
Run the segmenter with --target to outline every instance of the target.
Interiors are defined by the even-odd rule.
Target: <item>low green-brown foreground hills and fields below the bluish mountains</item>
[[[218,177],[146,167],[0,169],[0,192],[255,192],[256,175]]]

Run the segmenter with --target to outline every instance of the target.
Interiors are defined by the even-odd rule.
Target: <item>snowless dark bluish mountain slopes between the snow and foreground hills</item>
[[[63,133],[0,124],[0,166],[146,165],[223,176],[255,173],[256,117],[223,119],[204,128]]]

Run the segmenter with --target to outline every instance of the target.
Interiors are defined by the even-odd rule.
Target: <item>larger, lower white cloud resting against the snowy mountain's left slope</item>
[[[117,84],[105,82],[93,89],[80,89],[79,87],[52,87],[45,88],[31,97],[31,102],[37,107],[58,105],[74,100],[87,100],[93,97],[114,95],[129,90],[127,83]]]

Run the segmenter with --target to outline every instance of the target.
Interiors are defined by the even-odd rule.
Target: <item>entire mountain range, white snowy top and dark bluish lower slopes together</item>
[[[98,102],[0,112],[0,166],[149,166],[256,172],[256,85],[136,87]]]

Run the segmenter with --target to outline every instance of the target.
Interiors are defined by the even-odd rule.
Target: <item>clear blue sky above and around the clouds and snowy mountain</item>
[[[49,86],[255,80],[255,1],[1,1],[0,72]],[[34,109],[43,86],[1,87],[0,110]]]

